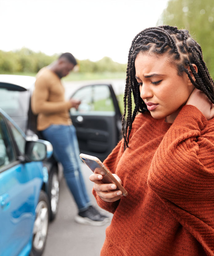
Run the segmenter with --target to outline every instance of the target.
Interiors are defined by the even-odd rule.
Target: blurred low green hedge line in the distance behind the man
[[[37,73],[39,69],[57,60],[58,55],[48,56],[42,52],[33,52],[22,48],[15,52],[0,50],[0,73]],[[109,57],[93,62],[79,60],[79,73],[125,72],[126,64],[114,62]]]

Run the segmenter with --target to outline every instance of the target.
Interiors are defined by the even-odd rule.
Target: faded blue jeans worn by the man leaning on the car
[[[53,146],[55,158],[62,163],[64,177],[75,199],[79,212],[91,205],[81,173],[79,145],[73,125],[51,125],[42,131],[43,137]]]

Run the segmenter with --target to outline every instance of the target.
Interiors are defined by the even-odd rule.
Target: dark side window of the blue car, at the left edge
[[[11,138],[8,134],[6,124],[0,116],[0,167],[15,160]]]

